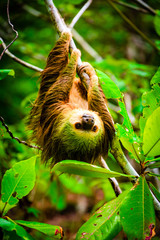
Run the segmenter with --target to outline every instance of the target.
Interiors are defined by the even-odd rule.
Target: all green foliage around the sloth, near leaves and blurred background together
[[[54,2],[67,23],[85,3],[83,0]],[[159,239],[154,203],[156,198],[160,205],[159,183],[155,184],[160,178],[160,4],[146,1],[156,9],[154,15],[116,5],[154,42],[154,50],[109,2],[93,1],[75,26],[103,59],[94,61],[83,45],[76,44],[81,49],[82,60],[90,61],[97,69],[116,122],[116,138],[133,167],[138,169],[139,177],[123,173],[123,156],[118,164],[112,151],[107,159],[109,170],[65,160],[50,171],[40,162],[37,150],[11,139],[0,123],[0,236],[3,239],[62,239],[63,231],[63,239],[111,240],[126,239],[126,236],[129,240]],[[140,7],[136,3],[130,6]],[[6,5],[0,3],[0,8],[4,10],[0,16],[0,35],[9,43],[14,33],[5,14]],[[45,3],[16,0],[10,2],[9,9],[11,22],[19,32],[19,38],[9,50],[43,68],[56,40]],[[30,135],[24,131],[25,118],[37,94],[38,78],[39,73],[3,55],[1,115],[19,139],[26,140]],[[113,177],[118,179],[123,191],[118,197],[108,181]]]

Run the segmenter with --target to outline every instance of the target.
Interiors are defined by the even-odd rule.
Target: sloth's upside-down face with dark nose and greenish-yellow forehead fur
[[[105,129],[98,113],[74,109],[60,123],[59,138],[66,151],[94,151],[103,145]]]

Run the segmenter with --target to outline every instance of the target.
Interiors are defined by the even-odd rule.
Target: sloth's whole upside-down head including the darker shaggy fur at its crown
[[[105,128],[98,113],[73,109],[63,113],[57,125],[58,152],[61,158],[90,162],[102,154],[105,148]],[[60,157],[60,156],[59,156]]]

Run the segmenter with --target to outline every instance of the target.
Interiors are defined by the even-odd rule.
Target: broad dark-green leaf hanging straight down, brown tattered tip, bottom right
[[[154,235],[153,199],[143,176],[125,197],[120,208],[120,218],[128,240],[149,239]]]

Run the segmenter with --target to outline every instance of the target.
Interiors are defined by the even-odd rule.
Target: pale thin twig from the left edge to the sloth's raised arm
[[[4,43],[3,39],[0,38],[0,41],[2,42],[2,47],[5,49],[5,54],[7,54],[10,58],[12,58],[14,61],[20,63],[21,65],[27,67],[27,68],[30,68],[34,71],[37,71],[37,72],[42,72],[43,69],[42,68],[39,68],[39,67],[36,67],[30,63],[27,63],[23,60],[21,60],[20,58],[16,57],[14,54],[12,54],[8,49],[6,49],[6,44]]]

